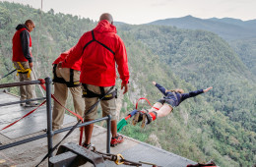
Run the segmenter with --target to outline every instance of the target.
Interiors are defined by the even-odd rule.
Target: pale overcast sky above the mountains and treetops
[[[0,0],[29,4],[41,8],[41,0]],[[192,15],[196,18],[256,19],[256,0],[42,0],[44,12],[78,15],[98,21],[102,13],[110,13],[114,21],[146,24],[167,18]]]

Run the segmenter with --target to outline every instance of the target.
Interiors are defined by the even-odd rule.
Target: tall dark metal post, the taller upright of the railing
[[[48,152],[52,149],[52,112],[51,112],[51,79],[45,78],[46,84],[46,110],[47,110],[47,139],[48,139]],[[49,159],[52,157],[52,153],[49,154],[48,157],[48,165]]]

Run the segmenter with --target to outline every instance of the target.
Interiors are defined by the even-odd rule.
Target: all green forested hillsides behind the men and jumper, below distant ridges
[[[53,60],[96,26],[90,19],[53,10],[41,13],[40,22],[39,10],[0,2],[0,76],[13,70],[12,36],[16,26],[27,19],[36,25],[32,53],[38,78],[51,76]],[[117,31],[127,48],[131,75],[120,118],[135,107],[138,98],[147,97],[154,103],[161,97],[153,81],[185,91],[214,86],[146,129],[128,125],[122,134],[194,161],[214,159],[219,166],[252,166],[256,162],[255,77],[222,38],[203,30],[160,26],[119,25]],[[0,83],[15,81],[12,75]],[[149,105],[140,103],[143,107]]]

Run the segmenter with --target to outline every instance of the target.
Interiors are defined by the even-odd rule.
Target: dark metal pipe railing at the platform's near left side
[[[20,86],[20,85],[28,85],[28,84],[40,84],[40,83],[41,83],[40,81],[28,81],[28,82],[20,82],[20,83],[4,83],[4,84],[0,84],[0,88]],[[48,152],[49,152],[53,148],[52,147],[52,137],[54,135],[56,135],[56,134],[69,131],[69,130],[71,130],[73,128],[73,126],[71,126],[71,127],[60,129],[60,130],[52,131],[51,83],[52,82],[51,82],[50,78],[45,78],[46,97],[34,98],[34,99],[30,99],[30,100],[22,100],[22,101],[15,101],[15,102],[9,102],[9,103],[0,104],[0,107],[1,107],[1,106],[18,104],[18,103],[23,103],[23,102],[28,102],[28,101],[35,101],[35,100],[46,99],[46,114],[47,114],[47,131],[46,131],[45,134],[38,135],[38,136],[29,138],[29,139],[23,139],[23,140],[15,141],[15,142],[12,142],[12,143],[0,145],[0,150],[7,149],[7,148],[10,148],[10,147],[13,147],[13,146],[17,146],[17,145],[20,145],[20,144],[23,144],[23,143],[27,143],[27,142],[30,142],[32,140],[42,139],[42,138],[47,137]],[[87,123],[81,123],[81,124],[79,124],[77,126],[77,128],[85,127],[85,126],[88,126],[90,124],[94,124],[96,122],[100,122],[100,121],[103,121],[103,120],[107,121],[106,152],[110,153],[110,129],[111,129],[111,122],[110,122],[111,121],[111,117],[110,116],[99,118],[99,119],[96,119],[94,121],[90,121],[90,122],[87,122]],[[48,163],[49,163],[49,158],[50,157],[52,157],[52,154],[50,154],[49,157],[48,157]]]

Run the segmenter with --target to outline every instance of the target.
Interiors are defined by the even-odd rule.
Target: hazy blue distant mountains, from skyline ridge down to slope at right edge
[[[186,16],[159,20],[149,24],[185,29],[201,29],[217,33],[229,43],[243,63],[256,76],[256,20],[241,21],[231,18],[199,19]]]

